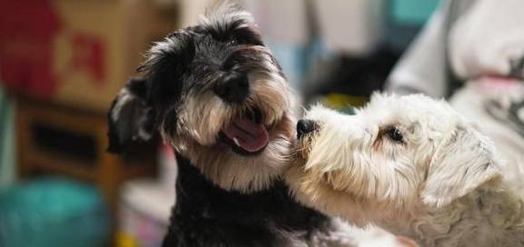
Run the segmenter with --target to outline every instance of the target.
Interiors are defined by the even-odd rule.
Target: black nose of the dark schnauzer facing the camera
[[[246,74],[226,74],[215,86],[215,94],[227,103],[242,103],[249,94],[249,82]]]

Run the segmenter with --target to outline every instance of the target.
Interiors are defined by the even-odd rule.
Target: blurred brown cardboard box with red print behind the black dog
[[[0,78],[10,89],[106,111],[176,5],[150,0],[0,0]]]

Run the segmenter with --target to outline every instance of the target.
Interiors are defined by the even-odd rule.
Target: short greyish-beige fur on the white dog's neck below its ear
[[[379,226],[421,246],[524,246],[524,203],[506,190],[479,188],[448,206],[407,217]]]

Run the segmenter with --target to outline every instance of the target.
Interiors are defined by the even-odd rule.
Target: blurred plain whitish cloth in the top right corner
[[[481,0],[448,33],[449,62],[463,81],[485,75],[522,77],[524,1]]]

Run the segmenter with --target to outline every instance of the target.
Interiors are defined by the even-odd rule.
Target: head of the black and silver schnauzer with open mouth
[[[110,113],[110,150],[158,130],[225,189],[257,190],[283,172],[290,91],[253,18],[222,2],[156,43]]]

